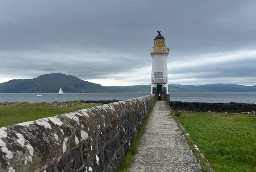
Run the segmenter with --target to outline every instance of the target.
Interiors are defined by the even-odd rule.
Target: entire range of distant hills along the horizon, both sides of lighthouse
[[[10,80],[0,84],[0,93],[57,93],[61,87],[64,93],[74,92],[150,92],[150,85],[102,86],[80,80],[75,76],[51,73],[34,79]],[[202,86],[170,84],[169,92],[256,92],[256,86],[236,84],[210,84]]]

